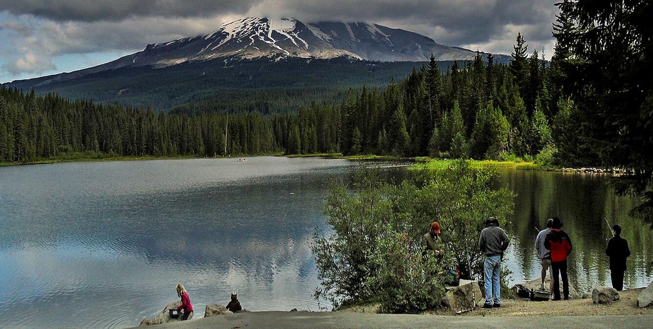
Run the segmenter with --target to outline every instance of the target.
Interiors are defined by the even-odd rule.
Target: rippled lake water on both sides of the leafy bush
[[[180,282],[195,317],[234,290],[247,309],[317,311],[312,234],[325,225],[328,181],[351,165],[253,157],[0,168],[3,326],[135,326],[176,300]],[[626,287],[651,281],[653,234],[606,178],[519,170],[501,178],[518,194],[507,227],[514,281],[539,275],[534,227],[554,215],[574,243],[574,285],[609,281],[603,216],[622,224],[633,251]]]

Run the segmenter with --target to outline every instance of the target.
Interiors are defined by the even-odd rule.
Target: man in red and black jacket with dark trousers
[[[544,240],[544,247],[551,251],[551,268],[553,269],[553,300],[560,300],[560,278],[565,300],[569,299],[569,280],[567,279],[567,256],[571,253],[571,239],[562,230],[560,218],[555,217],[551,232]]]

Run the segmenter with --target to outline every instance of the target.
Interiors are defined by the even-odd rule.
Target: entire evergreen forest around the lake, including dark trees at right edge
[[[558,4],[550,61],[517,35],[512,59],[433,59],[383,88],[295,113],[155,112],[0,89],[0,162],[82,152],[214,157],[263,153],[510,159],[626,166],[650,181],[651,6]],[[600,22],[600,24],[596,24]],[[219,108],[219,106],[214,107]],[[625,189],[624,189],[625,191]]]

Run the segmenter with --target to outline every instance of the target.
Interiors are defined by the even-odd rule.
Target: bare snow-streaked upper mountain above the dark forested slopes
[[[351,57],[368,61],[470,60],[475,52],[444,46],[433,39],[403,29],[379,24],[319,22],[295,19],[242,18],[223,24],[217,31],[197,37],[148,44],[135,54],[126,55],[88,69],[42,76],[22,83],[43,86],[80,78],[88,74],[128,67],[168,67],[189,61],[218,58],[306,57],[330,59]],[[482,53],[483,54],[483,53]],[[485,54],[483,54],[485,56]],[[495,61],[509,60],[496,55]],[[15,83],[15,82],[14,82]]]

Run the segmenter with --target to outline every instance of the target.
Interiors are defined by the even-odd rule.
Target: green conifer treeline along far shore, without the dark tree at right
[[[155,113],[0,91],[0,161],[29,162],[59,152],[216,156],[281,152],[474,157],[535,155],[551,143],[558,100],[537,51],[519,35],[513,61],[481,55],[445,72],[428,65],[384,89],[349,91],[340,104],[296,114]],[[225,109],[227,110],[227,109]],[[225,134],[225,131],[227,132]],[[226,145],[225,145],[226,144]]]

